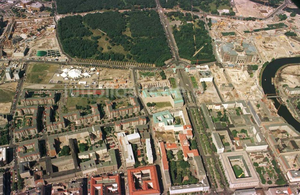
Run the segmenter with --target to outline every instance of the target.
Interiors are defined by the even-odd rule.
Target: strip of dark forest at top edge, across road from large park
[[[140,8],[155,7],[154,0],[57,0],[57,12],[79,13],[93,10],[114,10],[114,9],[130,9],[137,6]]]

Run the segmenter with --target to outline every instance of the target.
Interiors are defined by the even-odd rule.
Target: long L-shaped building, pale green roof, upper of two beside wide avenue
[[[183,106],[183,97],[179,90],[169,89],[168,87],[145,88],[141,92],[145,102],[170,102],[173,108],[181,108]]]

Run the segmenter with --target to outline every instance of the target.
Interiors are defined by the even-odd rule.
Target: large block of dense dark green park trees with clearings
[[[83,23],[86,24],[83,25]],[[130,35],[124,34],[129,27]],[[104,48],[98,45],[101,36],[92,35],[90,29],[99,29],[107,33],[106,41],[110,43]],[[102,33],[102,35],[104,35]],[[125,55],[110,51],[115,45],[122,45],[129,51],[127,59],[140,63],[164,65],[170,59],[170,48],[155,10],[130,11],[119,13],[107,11],[91,13],[85,16],[68,16],[58,22],[58,34],[64,51],[71,57],[95,58],[97,60],[125,60]]]

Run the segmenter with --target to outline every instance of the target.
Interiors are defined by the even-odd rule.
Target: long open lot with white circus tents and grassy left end
[[[125,89],[132,88],[132,71],[85,66],[30,64],[25,86],[31,89],[86,88]]]

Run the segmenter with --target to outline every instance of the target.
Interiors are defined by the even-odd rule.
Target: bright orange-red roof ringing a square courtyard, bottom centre
[[[142,182],[142,188],[136,189],[135,181],[134,181],[134,173],[140,173],[143,170],[150,171],[150,178],[151,180],[144,180]],[[129,194],[130,195],[146,195],[146,194],[160,194],[160,188],[158,183],[158,176],[155,165],[146,166],[146,167],[139,167],[135,169],[128,169],[128,187],[129,187]],[[153,188],[148,188],[148,184],[152,183]]]

